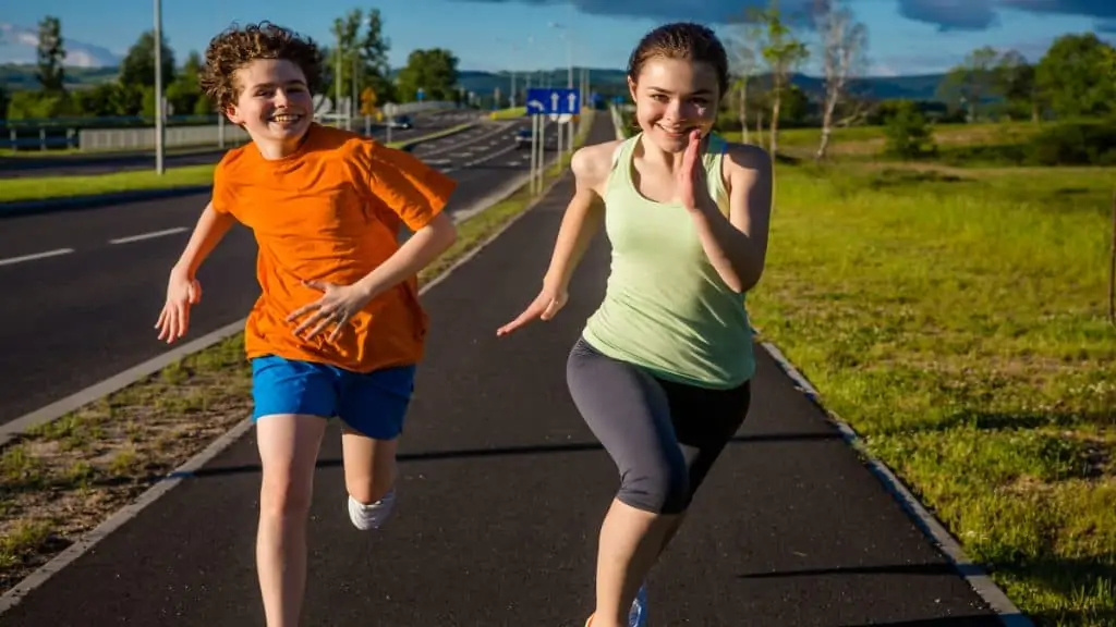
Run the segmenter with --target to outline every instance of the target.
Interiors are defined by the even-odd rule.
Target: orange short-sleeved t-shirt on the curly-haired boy
[[[373,299],[334,341],[333,325],[307,340],[294,332],[305,317],[288,322],[287,316],[323,295],[302,281],[360,280],[398,249],[402,224],[422,229],[455,186],[406,152],[318,124],[281,160],[263,158],[253,144],[229,151],[213,175],[213,209],[251,229],[259,245],[262,293],[248,317],[248,357],[360,373],[420,361],[427,319],[417,277]]]

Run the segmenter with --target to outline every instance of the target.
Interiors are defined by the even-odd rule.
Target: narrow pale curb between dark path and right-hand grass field
[[[760,331],[752,327],[752,335],[759,336]],[[826,419],[837,427],[841,440],[864,460],[868,470],[883,484],[884,489],[898,502],[899,507],[907,513],[920,531],[929,539],[934,547],[950,561],[953,570],[977,592],[985,605],[997,615],[997,618],[1006,627],[1035,627],[1035,623],[1027,617],[1008,595],[992,581],[989,573],[978,563],[973,562],[961,548],[961,543],[953,537],[937,518],[930,512],[903,481],[895,475],[886,464],[868,452],[867,446],[860,438],[856,430],[835,412],[826,408],[821,403],[821,395],[817,388],[810,384],[809,379],[798,370],[797,367],[779,350],[779,347],[770,341],[758,341],[758,344],[775,359],[785,375],[800,393],[816,406]]]

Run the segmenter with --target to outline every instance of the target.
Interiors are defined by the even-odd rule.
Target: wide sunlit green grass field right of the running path
[[[1116,624],[1116,168],[779,166],[757,327],[1040,625]]]

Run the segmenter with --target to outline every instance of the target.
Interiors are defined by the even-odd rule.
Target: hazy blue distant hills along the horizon
[[[93,86],[116,78],[118,69],[112,67],[66,68],[66,83],[71,88]],[[397,74],[398,70],[393,71]],[[577,85],[579,69],[575,68],[574,84]],[[511,75],[508,73],[490,73],[462,70],[458,73],[460,85],[468,91],[478,95],[491,95],[497,88],[502,94],[511,89]],[[517,73],[516,87],[522,89],[526,85],[550,85],[564,87],[567,84],[568,70],[556,68],[535,73]],[[850,88],[854,93],[874,99],[908,98],[912,100],[937,100],[935,90],[943,75],[869,77],[858,79]],[[606,96],[624,95],[627,91],[625,73],[618,69],[589,69],[589,79],[594,90]],[[764,81],[766,83],[766,81]],[[798,74],[793,76],[795,85],[808,94],[817,95],[822,90],[822,80],[818,77]],[[9,90],[37,89],[38,78],[33,65],[3,64],[0,65],[0,85]]]

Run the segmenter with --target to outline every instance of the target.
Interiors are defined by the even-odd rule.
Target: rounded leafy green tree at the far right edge
[[[1039,94],[1059,117],[1100,116],[1113,110],[1116,86],[1104,71],[1112,46],[1096,35],[1064,35],[1035,68]]]

